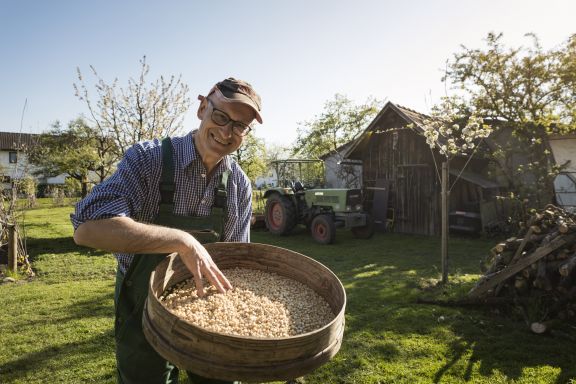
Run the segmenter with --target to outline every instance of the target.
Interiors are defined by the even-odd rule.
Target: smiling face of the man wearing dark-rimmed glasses
[[[223,126],[216,124],[212,119],[214,109],[224,112],[233,121]],[[200,103],[198,118],[201,123],[195,134],[194,142],[200,154],[203,158],[210,156],[221,159],[240,148],[244,141],[244,137],[233,132],[232,125],[234,122],[249,125],[255,118],[255,112],[246,104],[226,102],[219,92],[214,92]]]

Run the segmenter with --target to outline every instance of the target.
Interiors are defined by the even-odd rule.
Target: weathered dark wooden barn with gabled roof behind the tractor
[[[426,117],[388,102],[345,155],[362,161],[367,209],[380,230],[440,234],[442,157],[419,133]],[[494,200],[500,188],[487,178],[489,161],[478,152],[482,151],[464,172],[467,158],[450,163],[450,228],[454,231],[480,232],[497,219]]]

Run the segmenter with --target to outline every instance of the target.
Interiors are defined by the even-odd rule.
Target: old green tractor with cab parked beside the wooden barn
[[[278,186],[264,193],[264,220],[268,231],[287,235],[302,224],[320,244],[332,244],[337,227],[350,229],[358,238],[372,237],[374,222],[363,210],[362,191],[321,188],[324,185],[322,160],[286,159],[273,164]]]

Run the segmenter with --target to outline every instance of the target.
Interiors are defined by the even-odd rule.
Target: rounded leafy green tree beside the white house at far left
[[[64,128],[59,122],[40,135],[38,145],[29,150],[29,161],[39,167],[35,174],[56,176],[62,173],[78,180],[82,196],[88,193],[89,175],[102,181],[117,161],[116,144],[110,137],[79,118]]]

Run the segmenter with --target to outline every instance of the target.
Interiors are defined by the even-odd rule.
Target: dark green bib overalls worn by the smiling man
[[[210,216],[177,216],[174,211],[174,160],[170,138],[162,141],[160,208],[154,223],[191,232],[202,244],[221,239],[226,210],[228,171],[220,177]],[[126,275],[116,275],[114,302],[118,382],[122,384],[177,383],[178,368],[152,348],[142,332],[142,311],[148,294],[150,274],[165,254],[135,255]],[[230,383],[188,372],[191,383]]]

